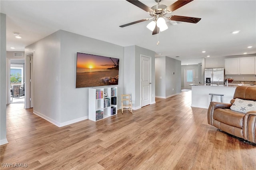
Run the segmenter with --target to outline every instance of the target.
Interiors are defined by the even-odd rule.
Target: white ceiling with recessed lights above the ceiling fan
[[[141,2],[149,7],[157,4],[154,0]],[[169,6],[174,2],[162,0],[160,4]],[[202,19],[197,24],[168,25],[168,30],[159,34],[158,46],[157,35],[146,28],[150,21],[119,27],[150,18],[125,0],[1,0],[0,9],[6,14],[7,51],[24,51],[27,45],[65,30],[121,46],[138,45],[155,51],[156,56],[181,60],[182,65],[200,63],[207,55],[256,54],[256,0],[194,0],[172,15]],[[234,30],[240,33],[231,34]],[[14,32],[22,38],[15,38]]]

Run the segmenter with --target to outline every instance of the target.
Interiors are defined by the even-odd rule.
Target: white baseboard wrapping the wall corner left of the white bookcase
[[[60,122],[57,122],[57,121],[51,119],[50,117],[47,117],[47,116],[45,116],[42,113],[39,113],[37,111],[33,111],[33,113],[35,115],[38,115],[39,117],[42,117],[43,119],[45,119],[46,121],[52,123],[53,125],[56,125],[57,127],[64,127],[66,125],[71,125],[73,123],[77,123],[77,122],[84,121],[84,120],[88,119],[88,116],[84,116],[84,117],[80,117],[78,119],[73,119],[71,121],[66,121],[64,123],[60,123]]]

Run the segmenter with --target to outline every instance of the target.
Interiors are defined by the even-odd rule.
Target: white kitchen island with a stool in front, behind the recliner
[[[210,105],[209,93],[223,94],[223,103],[230,103],[233,99],[236,86],[224,86],[224,85],[192,85],[192,101],[191,107],[199,107],[208,109]],[[220,96],[213,96],[212,101],[220,102]]]

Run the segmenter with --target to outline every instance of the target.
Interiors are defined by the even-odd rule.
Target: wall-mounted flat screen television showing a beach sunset
[[[76,54],[76,88],[118,85],[119,59]]]

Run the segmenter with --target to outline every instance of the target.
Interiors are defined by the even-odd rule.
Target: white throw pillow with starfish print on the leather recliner
[[[241,113],[247,113],[248,111],[256,111],[256,101],[235,99],[235,102],[230,107],[232,111],[237,111]]]

